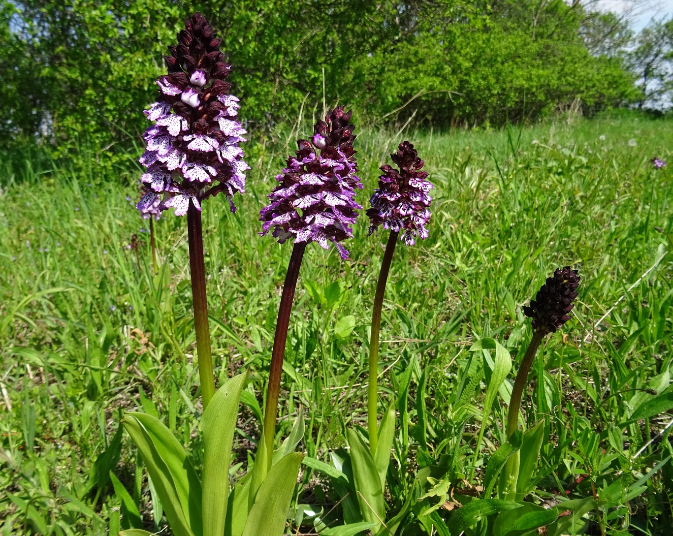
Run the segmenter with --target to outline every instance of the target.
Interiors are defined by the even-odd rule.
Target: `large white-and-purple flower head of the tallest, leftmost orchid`
[[[220,44],[205,17],[194,13],[178,44],[168,47],[168,74],[157,80],[160,96],[145,111],[154,125],[143,136],[147,150],[140,158],[147,167],[141,180],[149,186],[136,205],[143,214],[175,207],[184,215],[190,202],[201,210],[201,201],[219,192],[236,210],[232,197],[244,191],[250,168],[238,147],[246,131],[236,121],[240,106],[229,94],[231,66]]]

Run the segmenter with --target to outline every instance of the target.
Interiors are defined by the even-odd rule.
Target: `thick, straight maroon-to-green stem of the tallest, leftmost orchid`
[[[194,304],[194,330],[197,332],[197,356],[203,409],[215,395],[215,376],[208,326],[208,300],[206,298],[206,270],[203,263],[203,232],[201,212],[192,203],[187,211],[189,237],[189,268],[192,275],[192,303]]]

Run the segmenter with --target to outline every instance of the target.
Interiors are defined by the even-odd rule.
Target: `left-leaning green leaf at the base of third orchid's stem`
[[[348,428],[348,443],[351,446],[351,463],[353,464],[353,480],[357,502],[365,521],[379,522],[386,517],[386,507],[381,489],[381,479],[374,458],[359,434]],[[376,531],[374,531],[376,533]]]

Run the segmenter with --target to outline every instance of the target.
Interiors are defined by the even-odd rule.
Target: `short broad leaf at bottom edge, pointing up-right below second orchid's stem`
[[[248,514],[243,536],[283,535],[303,457],[302,453],[290,453],[271,467]]]

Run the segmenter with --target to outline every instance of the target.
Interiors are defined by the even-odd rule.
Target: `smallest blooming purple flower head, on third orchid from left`
[[[416,243],[416,236],[427,238],[425,228],[430,220],[430,201],[428,192],[432,185],[423,168],[423,160],[409,141],[403,141],[398,151],[390,155],[400,170],[386,164],[381,166],[384,172],[379,177],[379,187],[371,196],[371,208],[367,210],[371,226],[369,234],[380,225],[384,229],[400,232],[400,240],[407,246]]]

